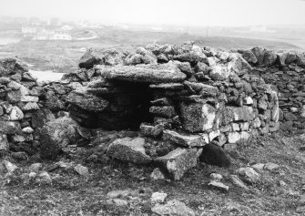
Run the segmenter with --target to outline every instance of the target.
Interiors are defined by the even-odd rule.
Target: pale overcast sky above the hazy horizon
[[[0,0],[0,15],[189,26],[305,25],[304,0]]]

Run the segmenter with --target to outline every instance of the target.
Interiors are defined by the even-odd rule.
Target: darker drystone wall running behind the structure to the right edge
[[[305,129],[305,54],[274,52],[261,47],[240,51],[253,66],[252,74],[262,77],[279,92],[282,130]]]

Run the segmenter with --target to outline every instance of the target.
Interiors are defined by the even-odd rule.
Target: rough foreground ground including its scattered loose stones
[[[3,155],[0,214],[304,215],[304,141],[283,133],[258,139],[228,151],[229,168],[201,163],[179,181],[107,159],[103,144],[71,147],[53,162]]]

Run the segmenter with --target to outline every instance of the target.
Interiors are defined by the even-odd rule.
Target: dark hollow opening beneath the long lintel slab
[[[142,122],[153,121],[149,113],[152,100],[149,84],[116,81],[112,85],[115,93],[102,96],[109,102],[108,107],[99,113],[82,113],[85,118],[78,122],[83,127],[138,130]]]

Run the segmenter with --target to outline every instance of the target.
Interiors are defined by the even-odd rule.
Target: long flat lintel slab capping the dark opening
[[[137,65],[97,67],[102,77],[134,82],[168,83],[182,82],[187,76],[172,63],[161,65]]]

